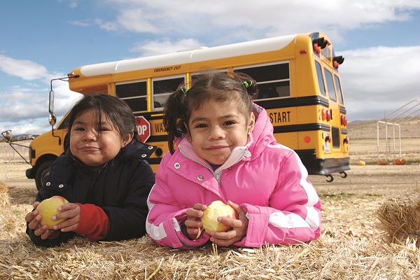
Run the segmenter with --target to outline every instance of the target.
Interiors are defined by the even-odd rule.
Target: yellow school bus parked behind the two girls
[[[332,181],[333,173],[345,178],[350,169],[338,71],[343,61],[328,36],[313,32],[90,64],[68,76],[70,90],[119,97],[141,121],[146,120],[146,125],[139,125],[139,134],[147,144],[158,146],[149,161],[156,171],[169,151],[162,125],[162,106],[169,94],[203,69],[247,73],[258,82],[254,102],[267,110],[276,140],[300,155],[309,174]]]

